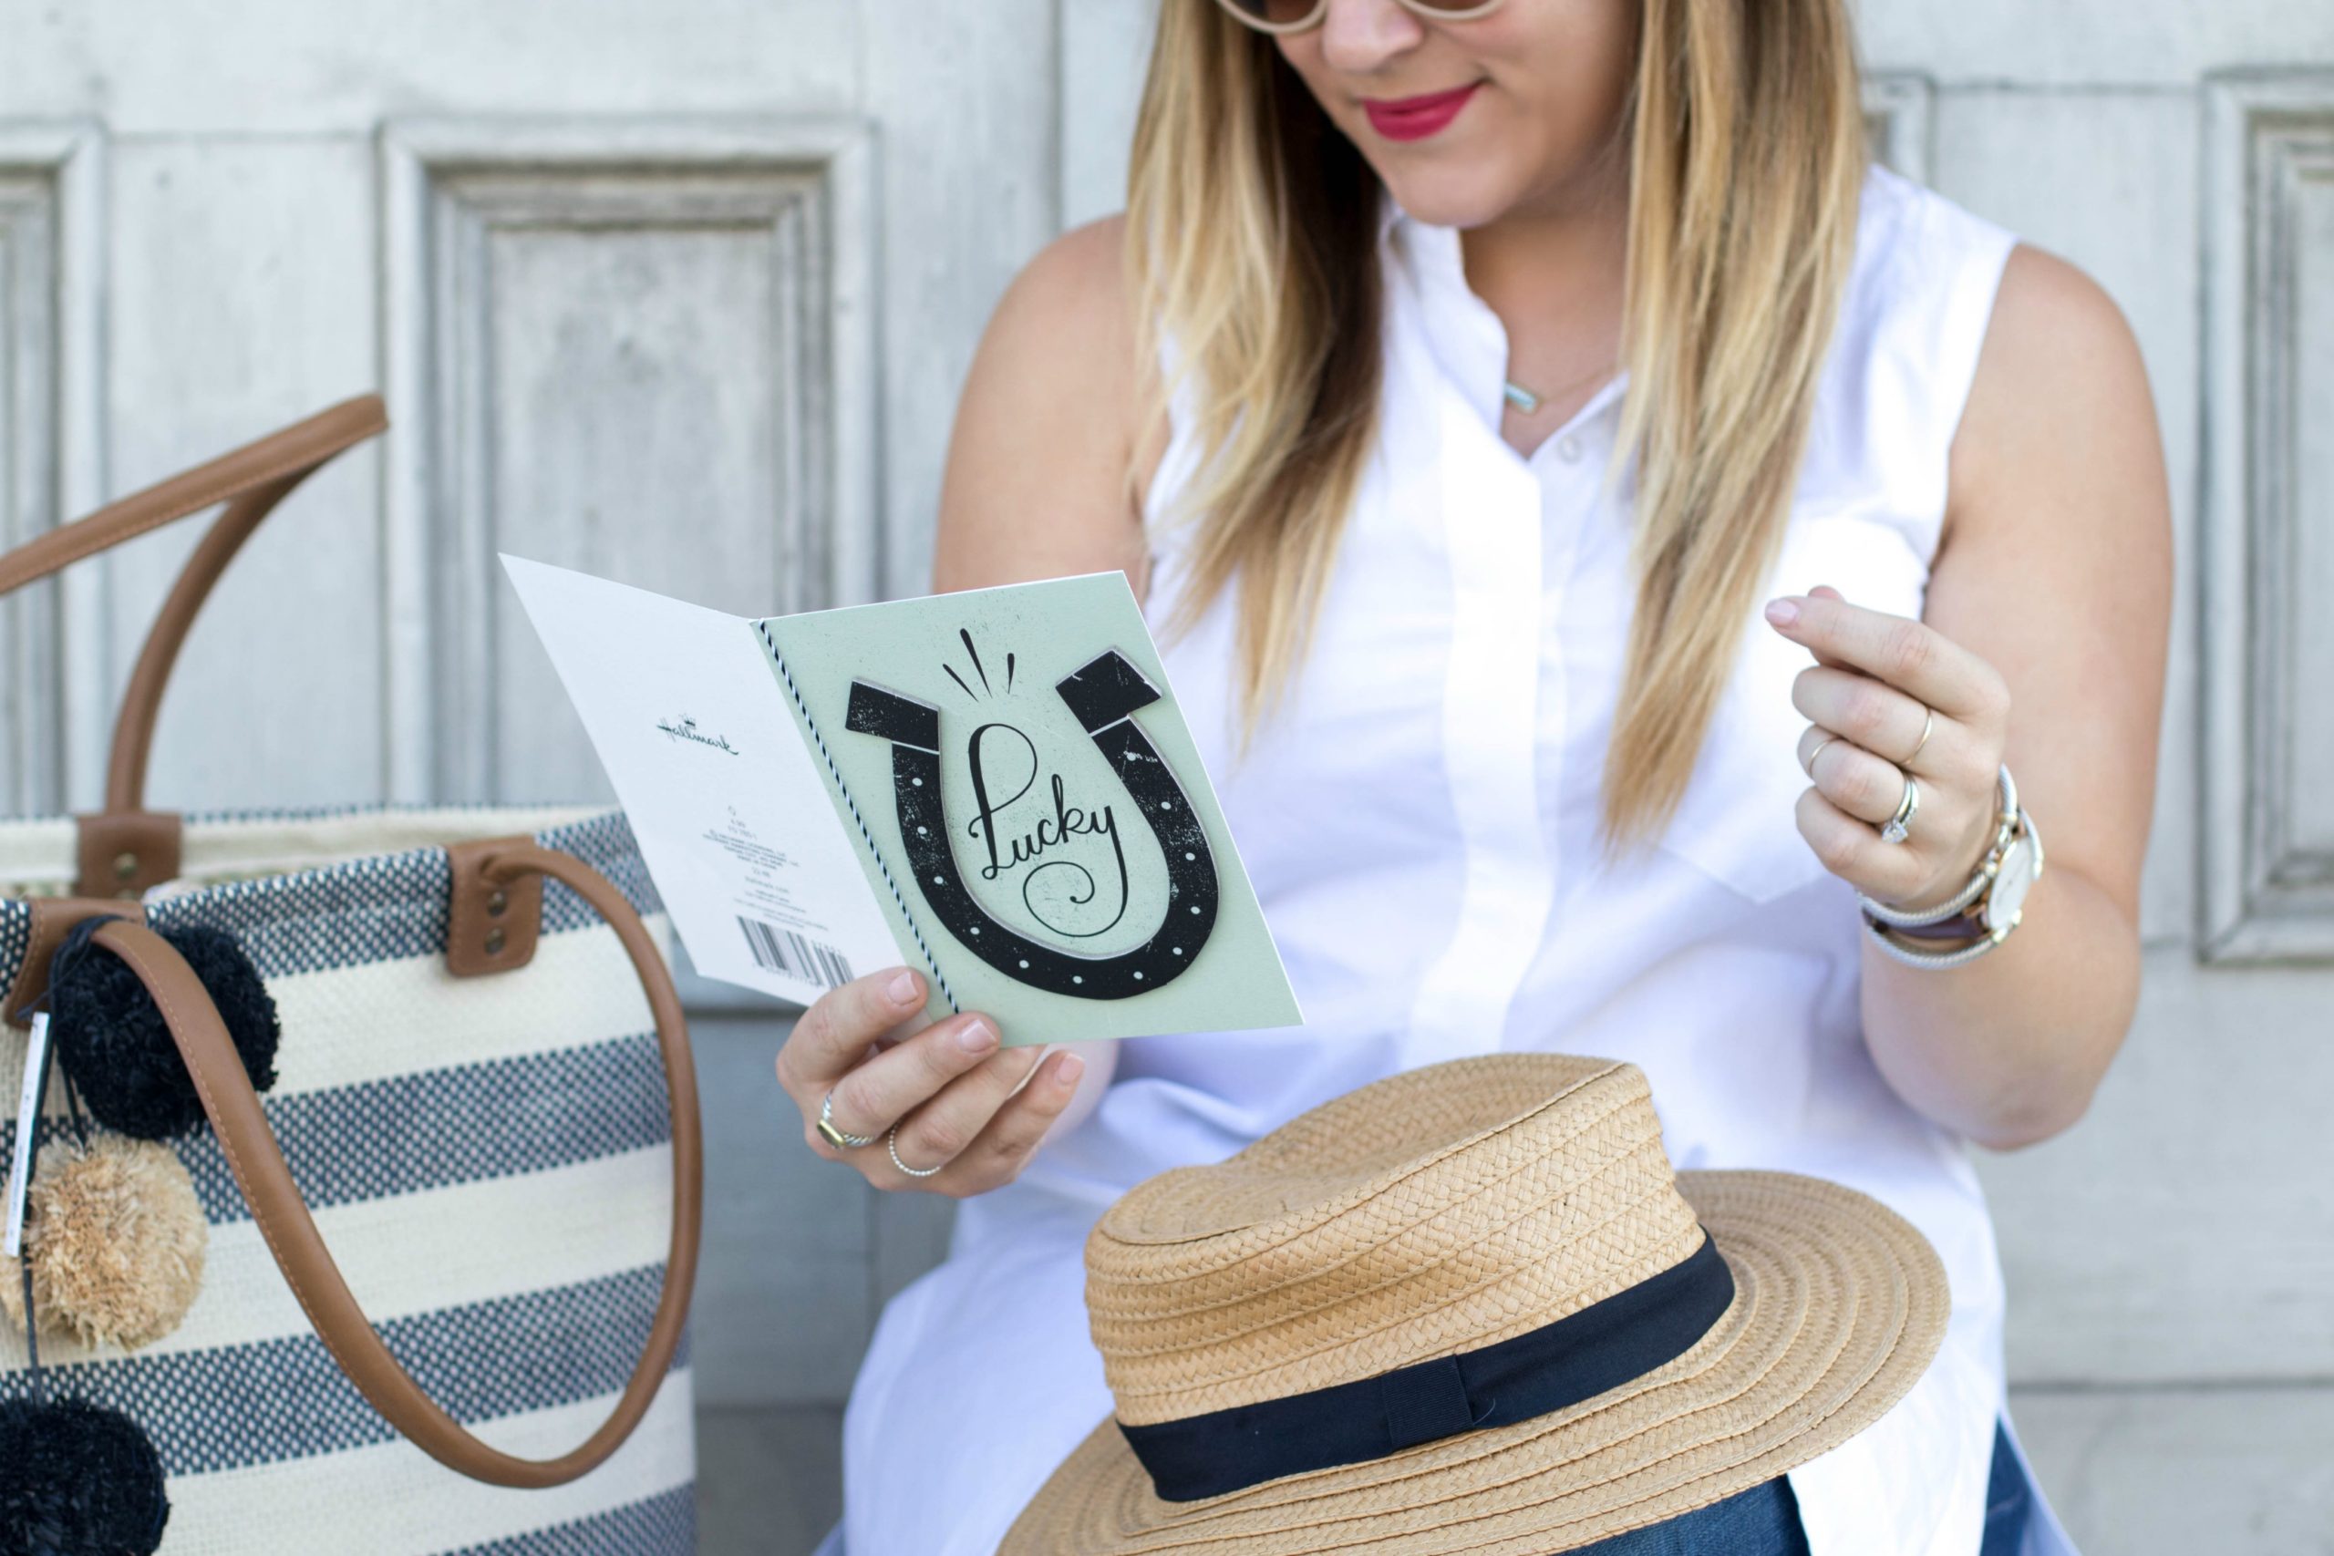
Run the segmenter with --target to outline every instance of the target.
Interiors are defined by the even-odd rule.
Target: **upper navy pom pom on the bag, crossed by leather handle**
[[[168,1141],[203,1122],[203,1099],[154,996],[126,961],[91,942],[105,921],[75,924],[49,961],[56,1059],[100,1124],[140,1141]],[[275,1085],[280,1026],[259,968],[222,928],[187,924],[156,933],[194,966],[226,1022],[226,1036],[236,1040],[252,1089],[266,1092]]]

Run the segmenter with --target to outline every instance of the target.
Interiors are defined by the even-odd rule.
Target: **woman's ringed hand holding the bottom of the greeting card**
[[[829,989],[780,1045],[777,1085],[803,1110],[803,1141],[817,1155],[857,1166],[882,1190],[966,1199],[1020,1176],[1076,1094],[1085,1061],[1053,1054],[1032,1075],[1046,1045],[999,1047],[997,1022],[971,1010],[910,1029],[922,1010],[924,977],[903,966]],[[829,1092],[836,1129],[873,1136],[871,1145],[831,1145],[819,1134]],[[908,1166],[941,1171],[899,1171],[885,1150],[892,1124]]]

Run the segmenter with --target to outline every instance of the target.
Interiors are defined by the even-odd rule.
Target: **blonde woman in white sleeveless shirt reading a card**
[[[1307,1024],[1081,1075],[901,1038],[899,968],[803,1017],[810,1148],[964,1201],[826,1549],[987,1551],[1109,1414],[1081,1246],[1125,1187],[1498,1047],[1636,1061],[1678,1166],[1851,1183],[1944,1257],[1944,1351],[1772,1549],[2066,1549],[1963,1143],[2073,1124],[2129,1026],[2168,555],[2122,315],[1870,163],[1842,0],[1162,0],[1127,215],[999,306],[934,583],[1127,572]],[[1900,961],[1858,893],[1954,898],[2003,765],[2049,830],[2019,928]]]

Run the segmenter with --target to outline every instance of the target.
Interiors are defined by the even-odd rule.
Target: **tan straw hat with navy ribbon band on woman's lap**
[[[1867,1194],[1671,1173],[1645,1075],[1452,1059],[1085,1239],[1116,1397],[999,1556],[1547,1556],[1774,1479],[1895,1404],[1944,1267]]]

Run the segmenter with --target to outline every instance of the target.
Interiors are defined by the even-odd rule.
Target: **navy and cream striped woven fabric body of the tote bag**
[[[271,847],[313,856],[336,835],[364,847],[369,816],[383,821],[380,837],[399,842],[166,896],[147,919],[233,933],[275,987],[287,1012],[278,1068],[299,1080],[261,1106],[327,1243],[350,1239],[336,1253],[352,1281],[373,1271],[357,1281],[357,1295],[380,1292],[390,1351],[457,1421],[499,1421],[532,1442],[541,1423],[574,1416],[581,1439],[637,1365],[665,1278],[658,1260],[672,1155],[663,1148],[672,1122],[658,1040],[621,940],[555,879],[544,882],[534,963],[448,982],[439,959],[450,863],[439,847],[404,847],[429,823],[427,809],[448,807],[189,814],[189,856],[198,844],[257,861]],[[502,830],[530,833],[600,870],[651,919],[651,933],[665,933],[663,903],[621,812],[558,826],[541,826],[541,809],[509,816]],[[448,837],[476,837],[492,835],[495,821],[490,809],[455,809],[443,826]],[[33,851],[70,875],[70,858],[44,858],[56,840],[70,847],[70,828],[35,826]],[[205,826],[236,835],[205,840]],[[268,835],[275,826],[282,844]],[[26,903],[0,900],[0,987],[23,961],[28,926]],[[21,1038],[9,1031],[0,1036],[0,1089],[14,1087],[16,1068]],[[42,1124],[54,1136],[61,1089],[51,1089],[49,1110]],[[12,1145],[9,1131],[0,1124],[0,1150]],[[124,1409],[154,1437],[184,1491],[166,1551],[261,1549],[250,1544],[254,1535],[292,1537],[308,1516],[287,1509],[287,1498],[313,1505],[341,1493],[373,1505],[397,1530],[352,1530],[366,1551],[693,1549],[686,1337],[656,1407],[616,1460],[523,1498],[476,1488],[399,1444],[308,1332],[210,1129],[175,1148],[215,1225],[205,1292],[187,1323],[128,1355],[65,1339],[54,1353],[44,1346],[51,1390]],[[593,1204],[576,1206],[576,1192]],[[598,1234],[591,1227],[602,1215],[626,1220]],[[392,1239],[411,1243],[392,1250]],[[425,1269],[404,1264],[406,1246]],[[0,1355],[21,1355],[21,1339],[0,1344]],[[21,1397],[28,1381],[21,1365],[0,1369],[0,1397]],[[565,1446],[572,1442],[544,1439],[532,1451]]]

